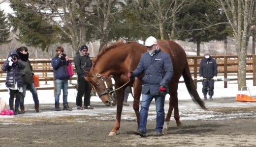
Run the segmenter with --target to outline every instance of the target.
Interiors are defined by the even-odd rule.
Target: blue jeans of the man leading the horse
[[[156,111],[157,111],[156,131],[161,133],[162,128],[163,128],[163,123],[164,123],[164,99],[165,99],[165,95],[152,96],[150,94],[147,94],[147,95],[142,94],[142,103],[141,103],[141,108],[140,108],[140,113],[139,113],[139,117],[140,117],[139,130],[143,131],[143,132],[146,132],[149,105],[150,105],[153,98],[155,98]]]

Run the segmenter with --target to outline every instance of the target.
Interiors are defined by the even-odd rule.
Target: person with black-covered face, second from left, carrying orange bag
[[[26,96],[26,90],[30,90],[32,93],[32,97],[34,100],[34,109],[35,112],[39,112],[39,100],[37,96],[37,91],[34,86],[33,82],[33,69],[29,60],[29,52],[27,47],[20,47],[17,49],[17,53],[21,58],[21,61],[25,64],[25,69],[21,71],[22,73],[22,78],[23,78],[23,93],[21,95],[21,100],[20,100],[20,108],[21,112],[25,113],[25,107],[24,107],[24,98]]]

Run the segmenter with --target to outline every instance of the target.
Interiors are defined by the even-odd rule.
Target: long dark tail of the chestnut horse
[[[190,93],[190,96],[191,96],[192,100],[194,102],[196,102],[202,109],[206,110],[207,108],[205,107],[204,102],[199,97],[199,95],[198,95],[198,93],[196,91],[193,79],[191,77],[191,73],[190,73],[189,63],[188,62],[186,62],[186,65],[185,65],[185,68],[184,68],[184,70],[182,72],[182,75],[183,75],[186,87],[187,87],[187,89],[188,89],[188,91]]]

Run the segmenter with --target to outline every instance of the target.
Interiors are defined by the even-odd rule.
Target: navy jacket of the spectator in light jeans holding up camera
[[[66,80],[69,79],[69,74],[67,73],[66,66],[68,65],[69,61],[65,59],[59,58],[59,56],[55,56],[52,58],[52,67],[53,67],[53,74],[55,79]]]

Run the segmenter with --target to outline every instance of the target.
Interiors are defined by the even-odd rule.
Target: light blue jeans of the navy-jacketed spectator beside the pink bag
[[[55,80],[55,103],[60,101],[61,90],[63,91],[63,103],[67,102],[68,80]]]

